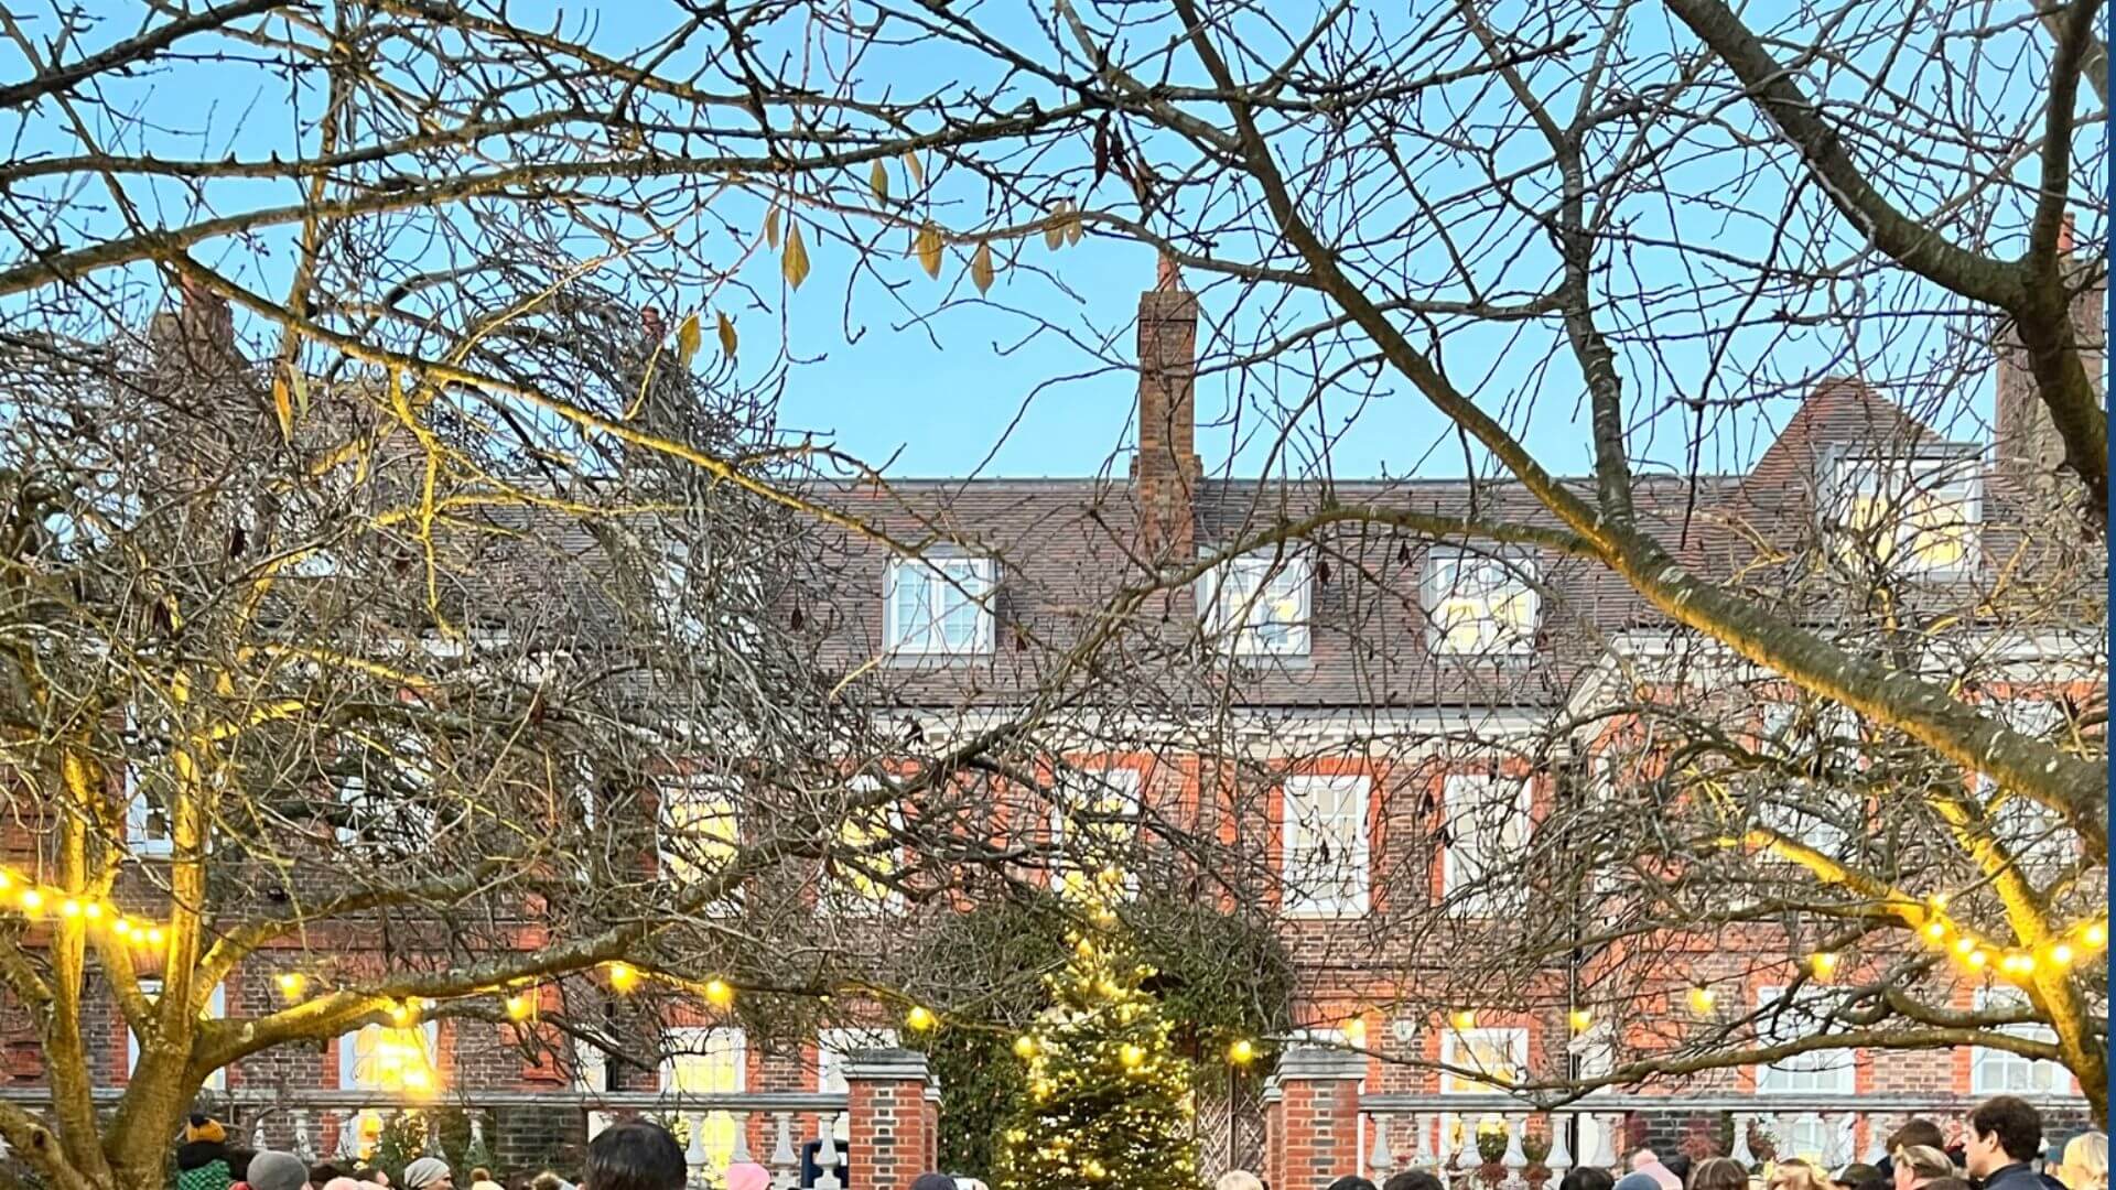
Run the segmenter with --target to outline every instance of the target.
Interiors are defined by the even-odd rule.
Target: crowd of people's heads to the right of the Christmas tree
[[[2000,1095],[1976,1105],[1962,1122],[1959,1143],[1932,1120],[1911,1120],[1887,1137],[1879,1165],[1852,1162],[1837,1171],[1803,1158],[1784,1158],[1750,1171],[1729,1156],[1631,1154],[1627,1171],[1583,1165],[1566,1171],[1555,1190],[2108,1190],[2110,1139],[2080,1133],[2044,1150],[2042,1114],[2033,1103]],[[1270,1190],[1261,1177],[1234,1171],[1215,1190]],[[1380,1188],[1348,1173],[1329,1190],[1447,1190],[1433,1169],[1392,1173]]]

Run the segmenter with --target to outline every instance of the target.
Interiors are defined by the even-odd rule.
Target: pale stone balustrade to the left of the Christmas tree
[[[114,1103],[121,1095],[118,1088],[97,1088],[95,1093],[97,1101],[106,1103]],[[311,1162],[362,1158],[362,1148],[406,1114],[423,1118],[461,1114],[468,1118],[472,1152],[495,1152],[491,1129],[508,1114],[573,1116],[584,1137],[592,1137],[622,1116],[650,1116],[667,1122],[683,1139],[692,1186],[717,1182],[728,1165],[758,1162],[772,1173],[777,1190],[791,1190],[800,1184],[800,1150],[808,1141],[817,1141],[815,1190],[838,1190],[844,1184],[844,1150],[836,1129],[838,1118],[849,1110],[849,1097],[842,1093],[474,1090],[459,1097],[408,1097],[377,1090],[245,1086],[214,1093],[212,1099],[235,1137],[252,1148],[279,1148]],[[34,1107],[47,1101],[47,1093],[34,1086],[8,1086],[0,1088],[0,1101]],[[753,1131],[762,1143],[751,1143]],[[421,1135],[425,1152],[440,1156],[442,1129],[421,1129]],[[4,1154],[4,1141],[0,1141],[0,1154]],[[457,1184],[468,1186],[468,1171],[455,1173]]]

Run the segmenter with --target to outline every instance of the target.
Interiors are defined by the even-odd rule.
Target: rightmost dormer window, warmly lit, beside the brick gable
[[[1976,565],[1983,483],[1972,457],[1837,462],[1828,500],[1837,557],[1892,574],[1962,574]]]

